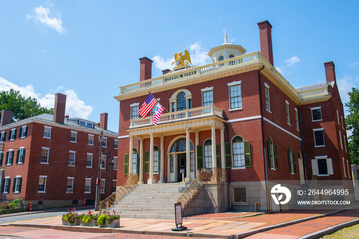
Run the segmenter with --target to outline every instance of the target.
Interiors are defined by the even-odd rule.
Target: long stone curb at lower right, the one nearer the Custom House
[[[261,228],[254,229],[254,230],[251,230],[251,231],[246,231],[246,232],[234,234],[234,238],[240,239],[240,238],[244,238],[244,237],[256,234],[256,233],[269,231],[269,230],[276,229],[276,228],[286,227],[286,226],[294,225],[294,224],[297,224],[297,223],[303,223],[303,222],[311,221],[311,220],[314,220],[314,219],[317,219],[317,218],[322,218],[322,217],[325,217],[325,216],[330,216],[330,215],[338,214],[338,213],[341,213],[341,212],[349,211],[349,210],[352,210],[352,209],[353,208],[345,208],[345,209],[340,209],[340,210],[336,210],[336,211],[333,211],[333,212],[327,212],[327,213],[324,213],[324,214],[321,214],[321,215],[309,216],[309,217],[293,220],[293,221],[286,222],[286,223],[275,224],[275,225],[271,225],[271,226],[267,226],[267,227],[261,227]]]

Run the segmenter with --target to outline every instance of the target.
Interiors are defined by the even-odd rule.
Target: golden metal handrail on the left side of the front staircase
[[[127,182],[114,193],[108,196],[104,201],[99,202],[99,213],[102,213],[103,209],[108,210],[114,203],[121,200],[131,189],[133,189],[138,184],[138,174],[129,173],[127,174]]]

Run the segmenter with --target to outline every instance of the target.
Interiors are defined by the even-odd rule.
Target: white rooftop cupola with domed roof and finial
[[[224,59],[232,58],[238,55],[243,55],[246,53],[241,45],[232,45],[228,43],[228,36],[225,33],[225,43],[221,46],[213,47],[209,50],[208,55],[212,58],[213,62],[223,61]]]

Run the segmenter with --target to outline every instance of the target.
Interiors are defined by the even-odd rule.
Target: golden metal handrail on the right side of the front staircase
[[[201,172],[194,178],[192,183],[188,185],[186,190],[178,198],[177,203],[181,203],[182,208],[184,208],[197,190],[202,187],[203,182],[227,182],[227,170],[222,168],[203,168]]]

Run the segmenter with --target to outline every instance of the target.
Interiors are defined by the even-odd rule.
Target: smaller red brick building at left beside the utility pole
[[[56,93],[54,115],[41,114],[11,123],[3,110],[0,138],[2,198],[25,198],[28,208],[94,204],[99,161],[99,132],[103,129],[101,193],[116,188],[117,133],[100,123],[65,116],[66,95]],[[111,163],[111,164],[109,164]]]

